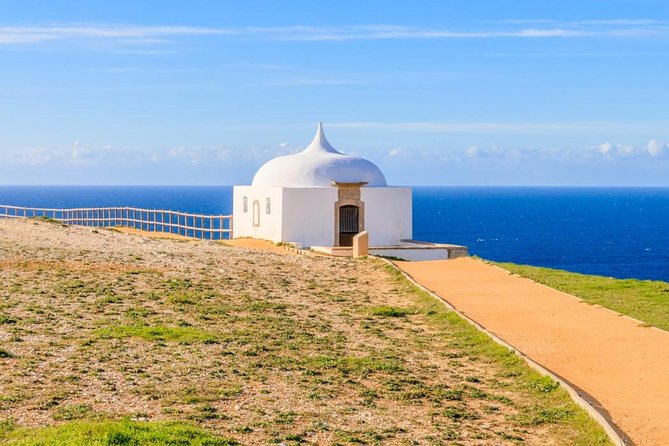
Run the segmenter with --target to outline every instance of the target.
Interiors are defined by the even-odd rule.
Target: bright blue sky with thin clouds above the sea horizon
[[[397,4],[396,4],[397,3]],[[3,1],[0,184],[669,186],[663,1]]]

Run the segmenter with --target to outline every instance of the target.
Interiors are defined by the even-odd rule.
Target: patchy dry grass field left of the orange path
[[[3,444],[609,444],[374,260],[0,221],[0,341]]]

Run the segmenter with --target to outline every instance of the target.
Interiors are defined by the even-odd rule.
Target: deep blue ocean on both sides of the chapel
[[[414,238],[485,259],[669,281],[669,188],[416,187]],[[0,186],[0,204],[230,214],[230,186]]]

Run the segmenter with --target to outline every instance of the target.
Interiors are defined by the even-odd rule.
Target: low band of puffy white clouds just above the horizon
[[[235,149],[225,146],[180,146],[163,150],[85,145],[74,141],[71,147],[0,149],[0,164],[25,166],[143,166],[147,164],[180,163],[190,166],[245,166],[256,168],[267,160],[302,150],[303,146],[279,143],[274,146]],[[391,147],[376,155],[360,153],[372,160],[386,163],[577,163],[593,166],[607,163],[641,163],[669,160],[669,145],[651,140],[645,145],[612,144],[578,149],[560,147],[506,147],[470,145],[464,148]],[[634,162],[636,162],[634,161]]]

